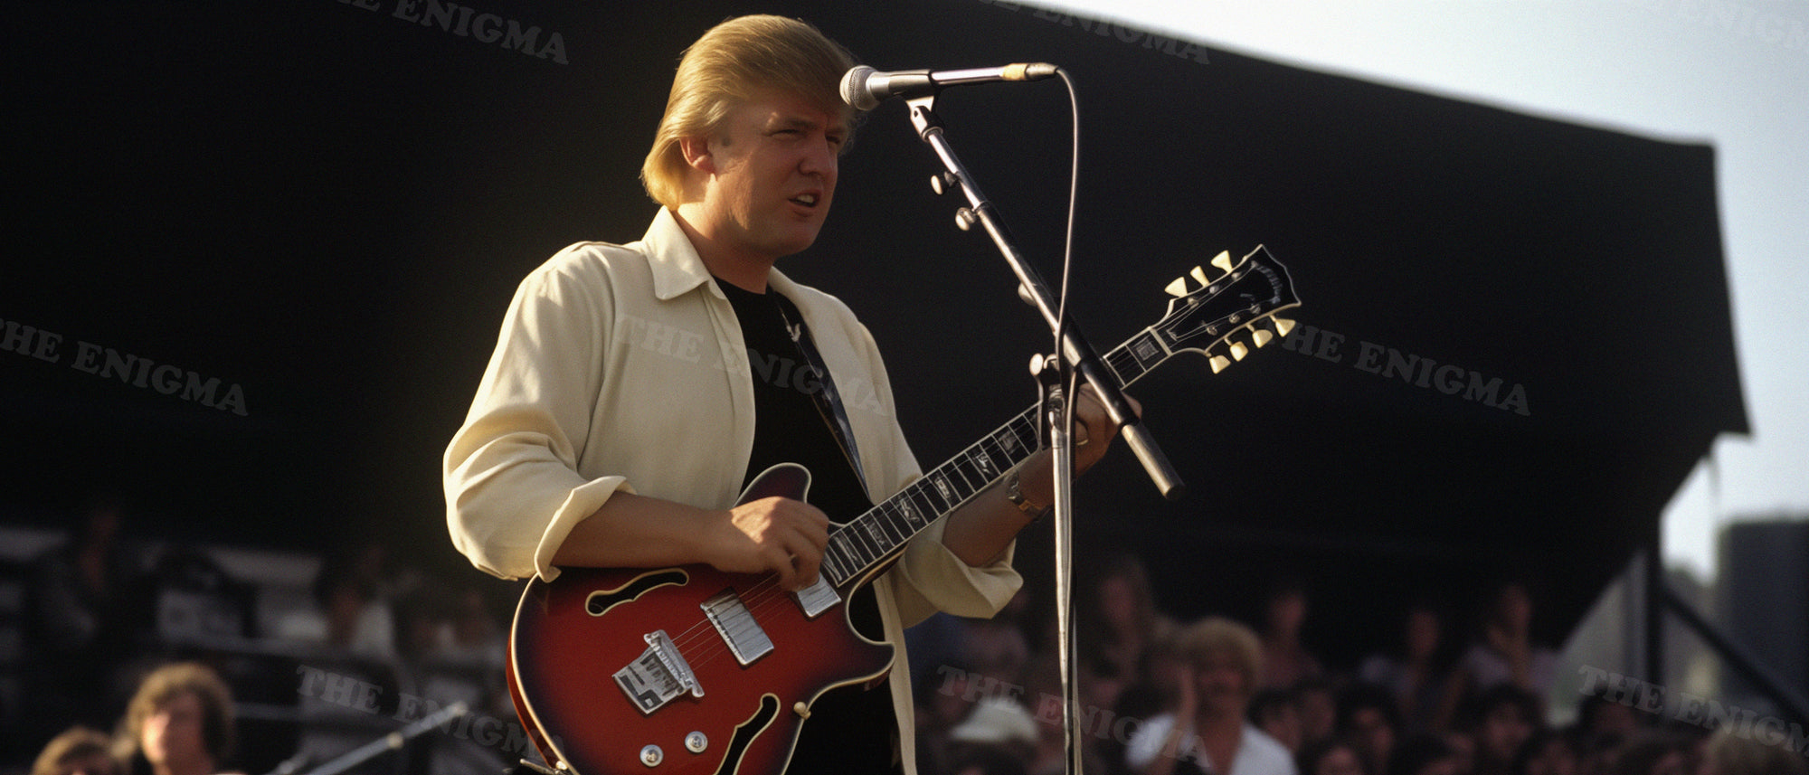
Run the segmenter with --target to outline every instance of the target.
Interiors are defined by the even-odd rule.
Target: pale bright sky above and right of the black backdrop
[[[1809,346],[1802,344],[1809,333],[1809,0],[1087,0],[1044,7],[1313,71],[1713,145],[1753,433],[1722,436],[1684,482],[1664,514],[1664,554],[1706,581],[1728,521],[1809,518]]]

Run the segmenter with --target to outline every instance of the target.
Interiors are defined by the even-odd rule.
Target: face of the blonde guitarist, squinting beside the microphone
[[[709,139],[706,212],[725,246],[778,259],[816,241],[836,194],[841,112],[760,91]]]

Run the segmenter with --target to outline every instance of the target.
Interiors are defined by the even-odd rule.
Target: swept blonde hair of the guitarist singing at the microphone
[[[677,208],[686,177],[678,141],[715,134],[760,89],[780,89],[839,112],[852,134],[856,112],[839,94],[841,74],[850,67],[854,56],[809,22],[758,14],[711,27],[678,60],[653,150],[640,165],[640,185],[653,201]]]

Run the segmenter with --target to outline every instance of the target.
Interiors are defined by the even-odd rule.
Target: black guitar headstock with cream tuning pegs
[[[1165,290],[1174,299],[1151,331],[1170,351],[1203,353],[1212,373],[1219,373],[1252,348],[1286,337],[1293,321],[1277,313],[1301,306],[1301,299],[1293,295],[1288,268],[1261,244],[1237,263],[1230,252],[1219,252],[1208,266],[1194,266],[1187,277],[1169,282]],[[1192,290],[1189,279],[1196,284]]]

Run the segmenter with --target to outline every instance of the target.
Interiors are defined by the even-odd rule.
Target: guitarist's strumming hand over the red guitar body
[[[816,583],[829,516],[791,498],[762,498],[729,509],[713,534],[707,561],[716,570],[780,576],[780,587],[800,590]]]

